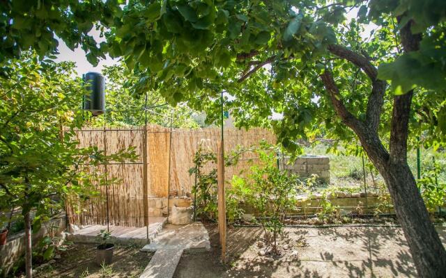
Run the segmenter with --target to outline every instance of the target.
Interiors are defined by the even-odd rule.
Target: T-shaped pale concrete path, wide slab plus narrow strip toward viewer
[[[171,278],[183,252],[210,250],[208,230],[201,222],[167,225],[141,252],[155,252],[140,278]]]

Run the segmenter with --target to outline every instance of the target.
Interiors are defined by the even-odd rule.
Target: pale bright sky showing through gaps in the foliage
[[[350,10],[347,13],[347,20],[352,19],[353,17],[356,17],[357,15],[357,10],[358,8],[354,8],[352,10]],[[364,28],[364,32],[362,32],[362,38],[368,38],[370,31],[373,30],[374,28],[376,28],[376,25],[371,23],[369,25],[366,25]],[[100,32],[95,30],[95,28],[93,28],[89,35],[92,35],[93,38],[95,38],[96,42],[100,43],[105,41],[105,38],[100,38]],[[69,49],[65,42],[63,42],[62,40],[58,40],[59,41],[59,54],[56,55],[58,58],[56,59],[57,61],[72,61],[76,63],[76,71],[77,74],[79,74],[79,76],[82,76],[82,74],[86,74],[87,72],[101,72],[102,69],[104,68],[104,66],[106,65],[115,65],[116,63],[118,63],[118,59],[112,59],[110,58],[108,55],[106,57],[106,59],[102,59],[100,60],[99,64],[96,67],[93,67],[93,65],[91,65],[87,60],[86,60],[86,54],[85,52],[78,47],[77,49],[75,49],[75,51],[71,51],[71,49]]]

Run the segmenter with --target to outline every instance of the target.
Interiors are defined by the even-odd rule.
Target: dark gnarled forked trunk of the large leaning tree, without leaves
[[[406,52],[417,51],[421,40],[421,35],[411,33],[411,24],[413,22],[408,22],[401,28],[401,43]],[[429,213],[407,163],[408,123],[413,91],[394,97],[390,147],[387,151],[378,136],[385,81],[378,80],[378,71],[366,57],[339,45],[330,45],[328,51],[360,67],[371,79],[372,90],[367,103],[366,119],[362,121],[344,105],[330,70],[321,74],[334,111],[356,133],[364,151],[387,184],[418,275],[426,278],[445,277],[446,250],[429,220]]]

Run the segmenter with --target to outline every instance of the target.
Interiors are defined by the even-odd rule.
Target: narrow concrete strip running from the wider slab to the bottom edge
[[[180,261],[183,249],[158,250],[139,278],[171,278]]]

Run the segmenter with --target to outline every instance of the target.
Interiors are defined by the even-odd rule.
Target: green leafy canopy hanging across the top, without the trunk
[[[427,133],[426,144],[436,147],[445,142],[443,0],[130,0],[121,6],[118,1],[62,1],[59,6],[22,2],[10,1],[10,10],[2,11],[2,38],[11,41],[2,46],[4,55],[17,55],[7,51],[8,45],[50,53],[55,44],[45,47],[45,42],[58,35],[71,46],[82,44],[93,63],[104,52],[123,58],[139,76],[136,88],[141,95],[157,90],[172,104],[187,101],[217,118],[216,99],[225,90],[231,100],[227,108],[233,108],[239,125],[272,125],[291,149],[294,138],[321,133],[343,140],[354,137],[334,117],[318,80],[325,67],[332,69],[347,108],[364,117],[367,77],[328,51],[328,46],[342,44],[366,56],[379,67],[378,77],[392,83],[380,126],[384,136],[392,94],[416,87],[413,134]],[[47,20],[39,20],[44,11]],[[355,12],[355,19],[346,20]],[[22,19],[29,20],[23,30]],[[409,20],[415,21],[413,32],[421,32],[423,39],[420,51],[402,54],[399,29]],[[377,28],[363,39],[362,28],[370,22]],[[87,34],[95,25],[106,42],[91,42]],[[48,40],[21,40],[31,26],[40,33],[45,30]],[[271,122],[274,113],[284,120]]]

